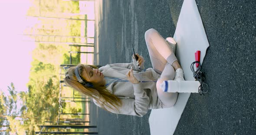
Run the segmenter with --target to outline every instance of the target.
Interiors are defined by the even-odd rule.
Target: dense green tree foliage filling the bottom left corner
[[[17,92],[13,83],[8,87],[8,95],[0,92],[0,131],[3,135],[33,135],[39,130],[37,125],[46,120],[56,121],[59,93],[58,83],[54,83],[53,78],[42,84],[31,83],[28,92]],[[38,86],[40,90],[36,89]]]

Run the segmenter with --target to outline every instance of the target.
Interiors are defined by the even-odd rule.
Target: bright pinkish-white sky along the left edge
[[[17,91],[26,91],[32,62],[33,42],[22,42],[28,21],[29,0],[0,0],[0,90],[13,82]]]

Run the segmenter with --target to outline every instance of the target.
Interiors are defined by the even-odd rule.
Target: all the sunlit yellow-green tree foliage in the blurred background
[[[70,16],[79,13],[78,1],[32,0],[28,16],[48,16],[85,19],[85,16]],[[58,14],[58,16],[56,16]],[[77,20],[38,19],[24,34],[80,36],[81,22]],[[31,33],[34,32],[34,33]],[[64,33],[64,34],[63,34]],[[59,39],[61,40],[61,39]],[[72,40],[72,41],[70,41]],[[58,41],[58,39],[56,39]],[[67,42],[80,42],[68,39]],[[14,84],[8,93],[0,90],[0,135],[34,135],[40,131],[37,125],[45,121],[55,122],[59,109],[59,64],[69,64],[70,47],[63,44],[37,44],[32,52],[28,91],[16,91]],[[74,47],[72,51],[79,51]],[[72,54],[72,64],[80,62],[80,54]],[[66,104],[63,103],[65,106]],[[76,113],[81,108],[64,109],[63,112]]]

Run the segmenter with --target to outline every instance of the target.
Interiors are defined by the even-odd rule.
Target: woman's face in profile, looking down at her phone
[[[105,79],[102,72],[98,69],[94,69],[88,65],[83,65],[85,70],[82,72],[81,76],[88,82],[92,84],[98,84],[100,86],[105,85]]]

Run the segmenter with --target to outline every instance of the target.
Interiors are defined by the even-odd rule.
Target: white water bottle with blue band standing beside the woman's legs
[[[194,80],[165,80],[160,87],[169,93],[198,93],[199,81]]]

